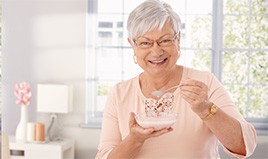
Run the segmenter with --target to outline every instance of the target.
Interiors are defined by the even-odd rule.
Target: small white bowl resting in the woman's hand
[[[137,123],[143,128],[154,128],[155,131],[171,127],[177,120],[177,114],[165,114],[148,117],[146,114],[136,114]]]

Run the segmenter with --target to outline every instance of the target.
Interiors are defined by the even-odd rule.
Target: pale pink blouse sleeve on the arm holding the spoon
[[[254,127],[243,118],[229,93],[224,89],[222,84],[214,75],[212,75],[212,80],[209,87],[210,100],[220,107],[220,109],[222,109],[225,113],[237,119],[242,128],[242,135],[246,146],[246,156],[235,154],[223,146],[224,151],[230,156],[235,156],[237,158],[244,158],[252,155],[256,147],[256,132]]]

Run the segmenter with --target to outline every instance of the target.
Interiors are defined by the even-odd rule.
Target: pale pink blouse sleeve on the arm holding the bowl
[[[109,93],[103,113],[102,131],[96,159],[106,159],[113,148],[121,141],[118,119],[116,117],[115,96],[115,89],[113,89]]]

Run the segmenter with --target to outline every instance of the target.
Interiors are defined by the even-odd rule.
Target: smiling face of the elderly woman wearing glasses
[[[134,39],[128,39],[136,55],[138,65],[150,75],[163,75],[175,68],[180,50],[180,35],[170,22],[162,30],[155,29]]]

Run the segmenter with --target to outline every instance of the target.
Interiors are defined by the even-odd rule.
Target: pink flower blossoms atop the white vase
[[[26,82],[15,84],[15,96],[18,98],[16,104],[20,106],[29,105],[32,96],[30,84]]]

